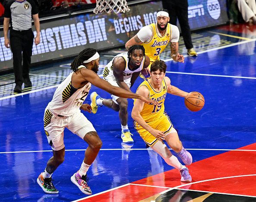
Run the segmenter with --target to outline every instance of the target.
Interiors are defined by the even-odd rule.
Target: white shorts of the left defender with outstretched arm
[[[84,139],[85,134],[96,131],[91,122],[79,111],[72,116],[59,117],[53,115],[49,109],[45,109],[44,131],[49,145],[55,151],[65,147],[63,139],[65,128],[78,135],[81,139]]]

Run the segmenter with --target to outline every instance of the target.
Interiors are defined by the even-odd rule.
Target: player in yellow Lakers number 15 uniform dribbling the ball
[[[141,138],[146,144],[156,151],[165,162],[178,169],[181,173],[181,181],[191,182],[192,178],[186,166],[181,165],[177,157],[173,156],[165,143],[175,151],[181,158],[184,164],[190,165],[192,163],[191,154],[186,151],[178,133],[172,126],[169,116],[165,112],[165,97],[167,93],[185,97],[187,92],[178,89],[171,85],[170,78],[165,76],[166,64],[162,60],[156,60],[151,64],[150,76],[147,81],[144,81],[137,88],[137,93],[150,97],[159,102],[160,106],[153,106],[151,104],[144,104],[140,100],[134,101],[134,107],[131,112],[131,117],[134,119],[134,127],[140,134]]]

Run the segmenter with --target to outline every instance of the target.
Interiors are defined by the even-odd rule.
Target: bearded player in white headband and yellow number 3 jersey
[[[143,45],[151,64],[153,61],[159,60],[160,53],[170,42],[172,59],[184,63],[184,56],[178,52],[180,32],[177,26],[168,23],[170,20],[168,10],[158,10],[156,20],[156,23],[142,27],[134,37],[126,42],[125,48],[128,50],[132,45]],[[143,71],[143,75],[147,78],[149,73],[150,66]]]

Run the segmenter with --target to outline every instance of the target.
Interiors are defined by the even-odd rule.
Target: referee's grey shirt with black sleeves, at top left
[[[6,3],[4,17],[11,18],[13,30],[28,30],[32,27],[32,15],[38,13],[34,0],[16,1],[9,0]]]

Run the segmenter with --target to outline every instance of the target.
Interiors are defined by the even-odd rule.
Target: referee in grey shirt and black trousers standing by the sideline
[[[31,17],[37,36],[31,29]],[[11,19],[11,20],[10,20]],[[9,23],[11,21],[10,39],[8,38]],[[32,87],[29,78],[33,41],[35,45],[40,43],[40,23],[38,7],[34,0],[9,0],[4,10],[3,21],[4,45],[11,48],[13,55],[13,69],[15,75],[15,93],[22,92],[24,87]],[[23,66],[22,66],[23,59]]]

